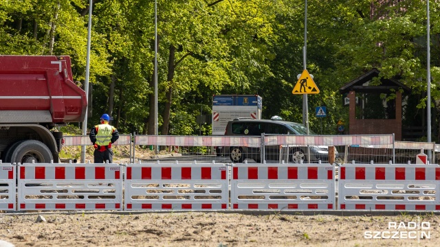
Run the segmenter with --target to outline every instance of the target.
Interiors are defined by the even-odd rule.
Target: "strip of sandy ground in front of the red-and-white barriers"
[[[37,222],[39,215],[46,221]],[[417,220],[425,222],[424,229],[410,229],[408,222]],[[389,222],[401,227],[388,229]],[[0,239],[14,246],[439,246],[439,222],[439,215],[405,213],[1,213]],[[385,237],[397,231],[399,238],[366,239],[365,231]],[[429,238],[419,238],[417,231],[429,233]],[[404,239],[408,235],[415,238]]]

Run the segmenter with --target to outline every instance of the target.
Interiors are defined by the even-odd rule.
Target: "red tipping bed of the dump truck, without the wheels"
[[[83,121],[85,91],[69,56],[0,56],[0,124]]]

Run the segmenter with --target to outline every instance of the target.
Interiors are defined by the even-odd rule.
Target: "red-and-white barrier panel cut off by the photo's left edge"
[[[15,210],[15,166],[0,163],[0,210]]]

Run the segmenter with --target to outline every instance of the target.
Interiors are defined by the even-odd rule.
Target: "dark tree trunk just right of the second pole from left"
[[[166,91],[166,102],[164,109],[164,124],[162,124],[162,134],[168,134],[169,125],[170,125],[170,112],[171,112],[171,104],[173,102],[173,78],[175,71],[175,52],[176,48],[174,45],[170,45],[170,56],[168,58],[168,75],[166,80],[170,82],[168,91]]]

